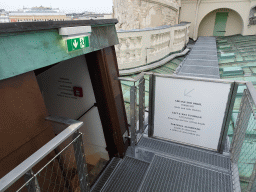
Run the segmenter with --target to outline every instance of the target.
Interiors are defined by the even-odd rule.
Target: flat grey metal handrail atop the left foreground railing
[[[10,171],[7,175],[0,179],[0,192],[8,189],[13,183],[20,179],[25,173],[31,170],[44,157],[51,153],[56,147],[63,143],[68,137],[74,134],[83,125],[83,122],[66,119],[61,117],[49,116],[46,120],[68,124],[69,126],[60,134],[46,143],[43,147],[33,153],[29,158],[19,164],[16,168]]]

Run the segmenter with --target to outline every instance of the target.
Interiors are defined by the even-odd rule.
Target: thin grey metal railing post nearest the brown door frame
[[[134,85],[130,90],[131,146],[134,150],[136,144],[136,96],[137,89]]]

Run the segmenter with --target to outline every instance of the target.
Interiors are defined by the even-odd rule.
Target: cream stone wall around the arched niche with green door
[[[231,22],[230,24],[228,23],[226,26],[226,31],[229,32],[226,33],[225,36],[236,34],[238,29],[241,31],[242,35],[255,35],[256,25],[250,25],[249,23],[249,18],[251,16],[250,11],[253,7],[256,6],[255,0],[201,0],[199,1],[200,4],[197,4],[197,2],[198,1],[196,0],[182,0],[182,7],[180,13],[180,21],[191,22],[189,37],[193,38],[194,40],[196,40],[198,37],[198,29],[200,25],[200,28],[204,28],[205,31],[211,30],[210,32],[208,32],[208,34],[213,33],[213,26],[211,26],[211,29],[207,29],[207,27],[209,27],[209,25],[215,24],[216,13],[214,15],[213,20],[209,21],[213,22],[212,24],[205,20],[209,19],[207,18],[209,17],[209,14],[219,9],[230,9],[233,12],[231,13],[233,16],[234,13],[236,12],[235,18],[238,18],[239,15],[239,20],[235,19],[235,23],[233,23],[234,17],[232,15],[232,17],[228,16],[228,20],[230,20]],[[234,28],[236,30],[233,30]],[[200,35],[201,34],[202,31],[200,32]],[[205,32],[203,32],[203,34],[206,35]]]

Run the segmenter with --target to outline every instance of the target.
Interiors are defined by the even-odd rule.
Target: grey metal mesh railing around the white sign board
[[[136,131],[136,82],[141,82],[142,79],[145,79],[145,75],[149,75],[149,94],[152,92],[152,75],[154,73],[143,72],[140,73],[135,78],[125,78],[119,77],[118,80],[134,82],[134,86],[131,86],[131,95],[130,95],[130,105],[131,105],[131,143],[133,146],[136,145],[137,133]],[[245,81],[231,81],[231,80],[216,80],[216,79],[205,79],[205,78],[196,78],[196,77],[185,77],[185,76],[176,76],[176,75],[161,75],[175,77],[178,79],[197,79],[202,81],[218,81],[226,83],[235,83],[239,86],[245,86],[243,96],[237,96],[235,102],[240,103],[240,109],[238,111],[238,116],[234,126],[230,126],[229,129],[229,141],[230,149],[228,155],[230,155],[232,163],[232,175],[233,175],[233,190],[234,191],[244,191],[244,192],[255,192],[256,191],[256,90],[251,82]],[[145,87],[143,88],[145,90]],[[141,87],[139,87],[140,95],[145,95],[145,92],[142,93]],[[240,98],[239,98],[240,97]],[[143,106],[141,102],[144,100],[139,100],[139,106]],[[145,108],[145,107],[144,107]],[[139,107],[140,109],[140,107]],[[152,102],[149,101],[149,110],[152,109]],[[143,119],[141,111],[139,113],[139,120]],[[149,111],[149,122],[148,125],[152,124],[152,117],[150,117]],[[232,123],[233,120],[231,120]],[[140,121],[139,121],[140,122]],[[142,122],[142,121],[141,121]],[[146,122],[144,122],[146,126]],[[140,126],[141,127],[141,126]],[[148,129],[148,136],[152,136],[153,133]],[[140,130],[142,131],[142,130]],[[144,130],[143,130],[144,131]],[[232,132],[230,134],[230,132]]]

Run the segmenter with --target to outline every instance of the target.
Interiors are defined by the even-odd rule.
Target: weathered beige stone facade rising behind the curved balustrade
[[[113,0],[117,30],[155,28],[178,24],[179,0]]]

